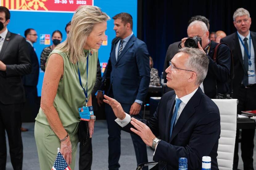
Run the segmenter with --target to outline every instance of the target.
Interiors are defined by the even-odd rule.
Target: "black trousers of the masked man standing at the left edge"
[[[23,104],[4,105],[0,102],[0,169],[6,168],[6,131],[12,167],[14,170],[22,170],[23,144],[20,131],[22,109]]]

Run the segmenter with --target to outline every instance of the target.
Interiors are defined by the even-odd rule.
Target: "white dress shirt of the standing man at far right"
[[[238,33],[238,32],[237,32]],[[238,35],[240,36],[240,38],[242,39],[243,43],[244,43],[244,36],[242,36],[241,34],[238,33]],[[252,65],[248,67],[248,70],[254,70],[254,74],[255,74],[255,54],[254,54],[254,47],[253,47],[253,43],[252,43],[252,38],[251,38],[251,42],[249,42],[249,39],[250,39],[250,31],[249,31],[249,34],[246,36],[247,38],[247,44],[248,44],[248,48],[250,50],[249,54],[251,55],[251,63]],[[239,44],[240,44],[240,48],[241,48],[241,52],[242,52],[242,57],[243,57],[243,61],[244,61],[244,54],[245,54],[245,49],[244,49],[244,46],[242,45],[242,42],[239,40],[238,38],[238,41],[239,41]],[[251,46],[250,46],[250,43],[251,43]],[[248,83],[249,84],[255,84],[256,83],[256,76],[249,76],[248,77]]]

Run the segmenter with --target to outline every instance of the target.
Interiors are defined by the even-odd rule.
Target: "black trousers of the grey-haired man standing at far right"
[[[255,96],[256,87],[245,88],[240,87],[239,92],[233,98],[238,99],[237,113],[241,111],[255,110]],[[238,138],[239,129],[237,129],[233,169],[236,170],[238,166]],[[242,129],[241,133],[241,157],[244,163],[244,170],[254,170],[253,168],[253,149],[254,149],[254,133],[255,129]]]

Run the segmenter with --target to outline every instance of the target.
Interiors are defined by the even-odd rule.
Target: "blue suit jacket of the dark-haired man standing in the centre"
[[[144,101],[150,83],[147,45],[132,35],[116,61],[115,49],[118,41],[119,39],[113,44],[102,83],[110,73],[110,87],[112,86],[117,101],[123,104],[132,104],[136,99]],[[106,94],[110,87],[105,91]]]

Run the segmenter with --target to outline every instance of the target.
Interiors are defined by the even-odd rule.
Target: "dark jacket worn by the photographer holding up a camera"
[[[213,99],[216,96],[216,81],[218,93],[229,93],[228,81],[230,79],[231,54],[227,45],[221,44],[217,50],[217,61],[213,61],[213,54],[217,43],[212,41],[208,53],[208,72],[203,81],[204,93]]]

